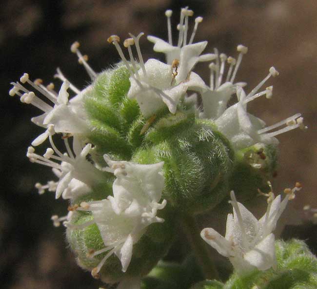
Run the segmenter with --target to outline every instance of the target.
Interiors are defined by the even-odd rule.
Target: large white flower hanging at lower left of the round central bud
[[[157,210],[166,205],[161,204],[164,177],[161,172],[163,162],[140,165],[127,161],[112,161],[104,156],[109,167],[105,171],[115,174],[113,196],[100,201],[81,203],[78,211],[90,211],[93,220],[81,225],[67,224],[70,229],[82,229],[96,223],[105,248],[92,253],[92,257],[107,252],[99,265],[92,270],[98,276],[106,260],[116,254],[125,272],[132,258],[133,245],[136,244],[147,226],[164,220],[157,217]]]

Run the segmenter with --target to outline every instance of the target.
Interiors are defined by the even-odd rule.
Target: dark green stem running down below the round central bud
[[[207,244],[200,238],[200,231],[195,217],[184,214],[182,216],[182,225],[205,278],[219,280],[218,270],[212,260]]]

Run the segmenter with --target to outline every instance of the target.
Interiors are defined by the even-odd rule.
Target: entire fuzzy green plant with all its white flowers
[[[297,182],[273,193],[276,136],[307,129],[303,118],[296,114],[266,126],[248,113],[250,101],[272,97],[272,86],[261,87],[277,70],[271,67],[255,88],[245,89],[236,76],[248,48],[238,45],[237,58],[217,49],[202,54],[207,41],[194,41],[201,17],[189,33],[193,14],[181,9],[177,41],[171,10],[165,13],[168,41],[147,37],[166,63],[144,62],[143,33],[130,34],[123,46],[113,35],[108,42],[121,61],[101,73],[89,66],[78,42],[71,46],[91,78],[81,91],[59,69],[58,90],[26,73],[12,82],[10,96],[42,112],[31,120],[45,131],[27,157],[51,167],[55,176],[35,186],[40,194],[55,192],[68,200],[67,215],[52,216],[54,226],[66,227],[80,267],[118,289],[317,288],[316,257],[303,241],[283,242],[273,233],[301,189]],[[209,63],[209,85],[193,72],[198,62]],[[44,143],[46,152],[37,154],[35,147]],[[212,216],[229,198],[233,212],[224,212],[225,236],[212,228],[200,231],[197,215]],[[266,212],[258,220],[238,200],[266,201]],[[180,229],[192,250],[182,264],[163,261]],[[232,264],[224,283],[218,270],[225,269],[210,257],[212,250]]]

